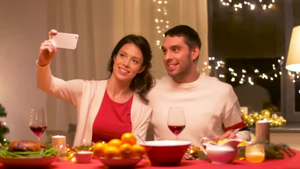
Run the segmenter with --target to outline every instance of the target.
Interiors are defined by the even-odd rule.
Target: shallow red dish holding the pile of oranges
[[[132,159],[107,159],[99,158],[99,160],[108,167],[133,167],[138,164],[142,158],[132,158]]]

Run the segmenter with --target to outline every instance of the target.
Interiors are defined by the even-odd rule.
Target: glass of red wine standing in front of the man
[[[175,134],[176,140],[178,140],[178,135],[186,127],[186,117],[183,107],[169,108],[168,127]]]

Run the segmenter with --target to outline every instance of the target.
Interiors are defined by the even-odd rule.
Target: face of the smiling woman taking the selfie
[[[134,43],[124,44],[114,56],[112,74],[121,81],[130,83],[136,74],[145,70],[143,54]]]

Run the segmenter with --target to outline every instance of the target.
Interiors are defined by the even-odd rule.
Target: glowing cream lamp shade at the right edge
[[[294,27],[285,68],[300,72],[300,26]]]

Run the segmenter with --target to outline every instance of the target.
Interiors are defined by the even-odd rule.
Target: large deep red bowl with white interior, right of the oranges
[[[178,166],[190,146],[190,141],[157,140],[141,144],[146,148],[146,154],[152,166]]]

